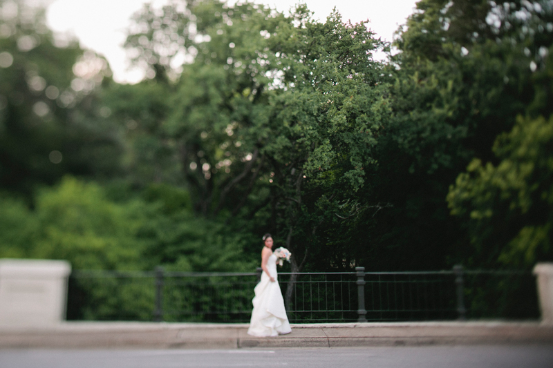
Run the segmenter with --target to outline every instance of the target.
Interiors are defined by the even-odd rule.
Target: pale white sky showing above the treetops
[[[32,2],[33,0],[28,0]],[[91,48],[108,59],[113,78],[120,83],[135,83],[142,79],[142,71],[129,69],[129,60],[122,48],[125,29],[131,15],[151,2],[162,6],[167,0],[34,0],[50,3],[46,12],[48,26],[56,32],[71,32],[81,46]],[[303,0],[315,12],[315,18],[324,20],[336,6],[344,20],[352,23],[369,19],[368,27],[386,41],[392,41],[393,32],[413,12],[417,0]],[[279,11],[288,12],[298,0],[254,0]],[[234,1],[229,1],[234,3]]]

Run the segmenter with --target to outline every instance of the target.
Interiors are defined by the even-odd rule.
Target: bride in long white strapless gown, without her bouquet
[[[271,234],[263,236],[263,251],[261,251],[261,281],[256,285],[255,296],[252,300],[254,310],[252,311],[252,320],[250,320],[250,329],[247,333],[252,336],[277,336],[292,332],[286,309],[284,309],[284,300],[282,298],[281,288],[277,281],[277,256],[272,253]]]

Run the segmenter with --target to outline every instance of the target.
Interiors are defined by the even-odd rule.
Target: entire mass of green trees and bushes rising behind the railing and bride
[[[145,6],[135,85],[1,14],[2,258],[254,271],[270,232],[291,271],[553,260],[550,1],[422,0],[393,45],[301,5]]]

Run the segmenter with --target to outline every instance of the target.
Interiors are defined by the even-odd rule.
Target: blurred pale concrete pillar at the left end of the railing
[[[0,259],[0,327],[41,327],[65,319],[71,265]]]

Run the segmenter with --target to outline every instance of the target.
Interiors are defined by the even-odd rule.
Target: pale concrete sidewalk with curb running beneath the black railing
[[[547,344],[538,322],[366,322],[292,325],[276,338],[248,336],[247,324],[64,322],[41,329],[0,328],[0,349],[238,349],[398,345]]]

